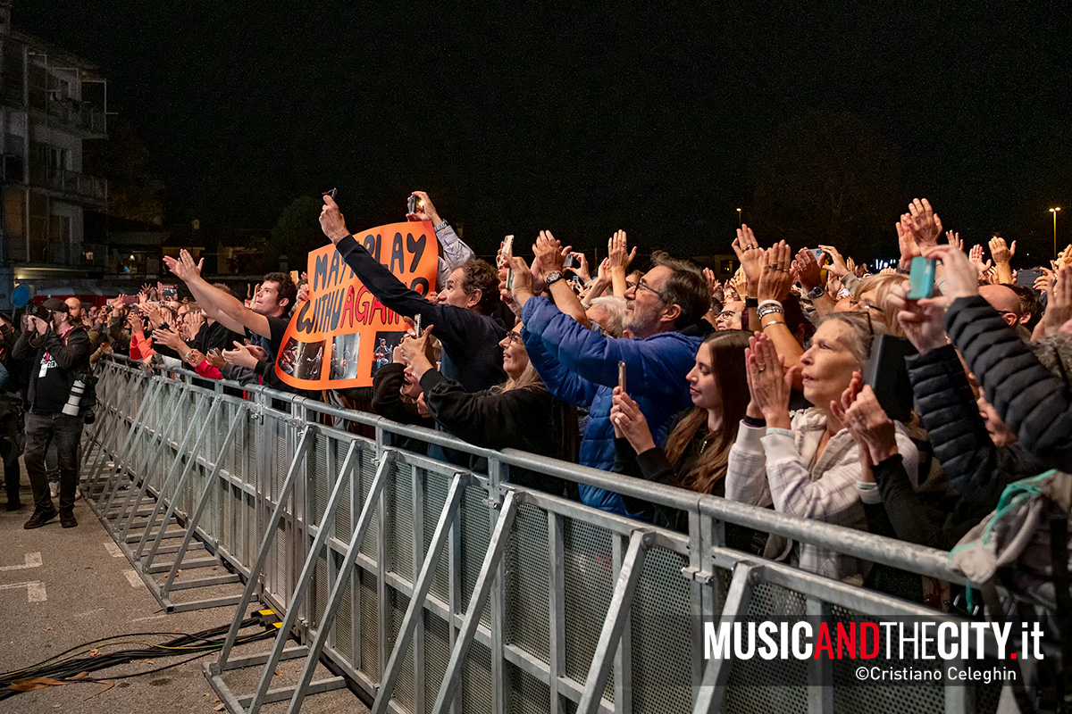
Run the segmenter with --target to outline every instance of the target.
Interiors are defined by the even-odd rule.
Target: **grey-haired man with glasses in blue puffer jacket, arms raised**
[[[528,359],[548,390],[579,407],[591,405],[581,440],[580,462],[605,471],[614,464],[611,396],[625,363],[626,391],[640,405],[652,434],[661,440],[675,414],[691,406],[685,375],[711,325],[702,320],[711,294],[700,270],[665,253],[652,257],[654,268],[625,293],[623,328],[631,338],[607,337],[585,329],[560,312],[530,286],[516,286],[522,337]],[[538,262],[548,284],[562,279],[559,264]],[[581,500],[628,517],[621,495],[581,485]]]

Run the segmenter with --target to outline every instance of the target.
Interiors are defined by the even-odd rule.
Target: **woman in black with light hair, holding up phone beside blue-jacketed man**
[[[460,383],[440,374],[428,359],[425,341],[434,325],[429,325],[420,337],[404,338],[401,350],[408,370],[425,391],[432,417],[450,434],[486,449],[517,449],[576,461],[577,412],[547,391],[521,341],[522,326],[518,322],[498,343],[507,380],[481,392],[466,392]],[[510,481],[555,495],[567,492],[557,478],[517,468],[510,469]]]

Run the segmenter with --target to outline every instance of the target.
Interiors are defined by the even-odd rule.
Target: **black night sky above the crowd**
[[[1066,3],[448,4],[15,0],[14,26],[101,66],[169,223],[270,228],[338,186],[357,230],[423,188],[481,252],[625,228],[726,253],[738,207],[777,237],[756,177],[818,111],[858,118],[897,157],[866,168],[970,242],[1048,253],[1055,204],[1072,239]]]

